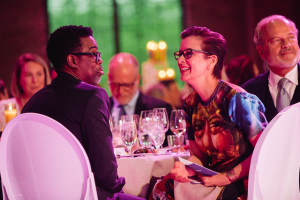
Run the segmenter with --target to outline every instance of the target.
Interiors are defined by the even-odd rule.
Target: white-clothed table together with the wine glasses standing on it
[[[140,116],[122,115],[118,129],[111,127],[117,172],[125,177],[125,193],[148,198],[156,180],[169,173],[178,157],[189,158],[189,151],[183,150],[184,112],[172,113],[170,121],[165,108],[144,110]],[[168,146],[163,148],[168,128],[177,135],[168,135]]]

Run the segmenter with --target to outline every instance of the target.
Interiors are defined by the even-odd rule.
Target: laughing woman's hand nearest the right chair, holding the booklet
[[[212,176],[206,176],[206,175],[202,175],[201,173],[198,173],[198,176],[201,178],[205,186],[221,187],[231,183],[229,178],[226,176],[226,173],[218,173]]]

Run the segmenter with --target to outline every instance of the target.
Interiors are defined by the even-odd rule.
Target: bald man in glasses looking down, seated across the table
[[[108,63],[107,77],[112,95],[109,103],[114,125],[118,124],[120,114],[140,114],[142,110],[153,108],[166,108],[168,117],[170,117],[172,111],[170,104],[139,91],[140,74],[138,70],[137,59],[126,52],[113,55]],[[166,135],[168,134],[173,133],[168,130]],[[166,139],[163,145],[167,145]]]

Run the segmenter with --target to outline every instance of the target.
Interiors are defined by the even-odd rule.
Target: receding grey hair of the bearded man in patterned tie
[[[263,46],[261,28],[264,25],[266,25],[267,23],[274,21],[274,20],[280,20],[280,21],[283,21],[284,23],[290,23],[295,31],[295,34],[296,34],[295,36],[298,37],[298,29],[296,28],[296,25],[292,20],[286,18],[285,16],[274,14],[271,16],[264,17],[257,23],[255,32],[254,32],[254,37],[253,37],[253,40],[254,40],[254,43],[256,44],[256,46]]]

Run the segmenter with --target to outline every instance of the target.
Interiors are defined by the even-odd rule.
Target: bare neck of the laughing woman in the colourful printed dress
[[[218,78],[213,78],[213,79],[206,79],[205,81],[202,81],[202,83],[198,82],[195,84],[191,84],[191,83],[190,84],[199,94],[201,99],[205,102],[210,98],[210,96],[214,92],[218,82],[219,82]]]

